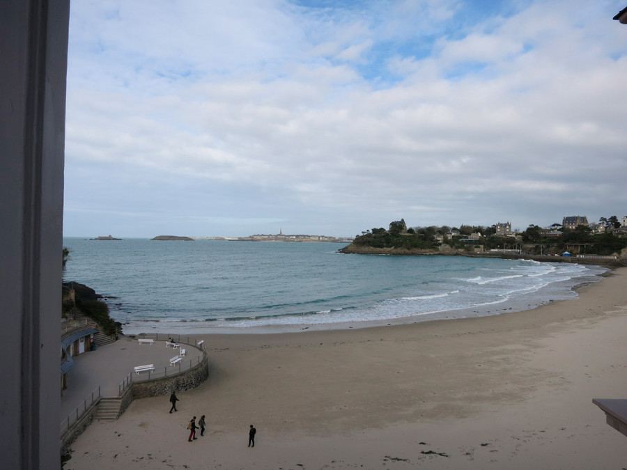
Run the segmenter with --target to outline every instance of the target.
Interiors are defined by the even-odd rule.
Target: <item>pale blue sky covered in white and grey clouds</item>
[[[620,218],[625,6],[72,1],[64,235]]]

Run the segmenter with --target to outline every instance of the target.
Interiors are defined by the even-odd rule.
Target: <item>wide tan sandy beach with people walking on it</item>
[[[627,437],[591,402],[627,398],[627,268],[578,292],[493,317],[205,335],[210,378],[177,413],[135,400],[65,469],[627,468]]]

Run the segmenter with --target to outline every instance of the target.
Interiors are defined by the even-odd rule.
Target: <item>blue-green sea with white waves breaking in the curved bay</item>
[[[268,333],[454,319],[575,299],[605,267],[338,253],[345,244],[65,237],[63,279],[125,334]]]

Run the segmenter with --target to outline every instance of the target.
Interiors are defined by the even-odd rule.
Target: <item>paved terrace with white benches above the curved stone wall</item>
[[[186,350],[182,363],[194,361],[203,354],[191,345],[182,345]],[[154,364],[157,370],[167,368],[174,373],[178,365],[170,366],[170,358],[178,354],[178,349],[166,347],[162,340],[153,345],[140,344],[137,339],[120,336],[115,343],[100,346],[95,351],[80,354],[74,358],[75,366],[67,374],[68,388],[61,396],[61,416],[63,420],[83,400],[100,386],[100,395],[114,397],[118,395],[119,384],[129,373],[134,376],[135,366]],[[168,372],[169,373],[169,372]],[[141,373],[144,378],[147,373]]]

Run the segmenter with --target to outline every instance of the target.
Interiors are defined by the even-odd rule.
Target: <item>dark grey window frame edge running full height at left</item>
[[[69,0],[0,2],[0,455],[59,460],[63,151]]]

